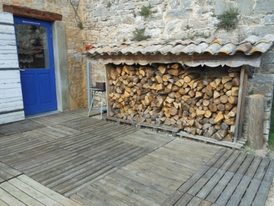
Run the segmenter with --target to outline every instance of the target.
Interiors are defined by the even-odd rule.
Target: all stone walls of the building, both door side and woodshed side
[[[274,34],[273,0],[71,0],[82,18],[84,30],[77,27],[75,11],[66,0],[1,0],[2,4],[20,5],[36,10],[62,14],[66,23],[66,47],[71,109],[87,106],[86,60],[84,45],[130,41],[136,28],[158,39],[181,39],[194,34],[214,38],[234,38],[247,34]],[[142,5],[151,5],[153,13],[147,19],[140,16]],[[238,27],[231,31],[216,31],[216,15],[228,8],[238,8]],[[274,47],[262,57],[254,78],[249,78],[247,94],[265,95],[264,137],[268,138],[274,78]],[[92,65],[92,84],[105,80],[104,65]],[[247,118],[247,112],[245,113]],[[244,134],[247,132],[245,121]]]

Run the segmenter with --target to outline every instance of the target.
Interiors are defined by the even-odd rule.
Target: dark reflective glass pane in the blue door
[[[47,27],[15,24],[20,69],[49,69]]]

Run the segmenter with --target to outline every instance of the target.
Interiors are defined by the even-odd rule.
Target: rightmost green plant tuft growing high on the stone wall
[[[223,12],[223,14],[217,16],[219,23],[216,23],[216,30],[224,29],[227,32],[235,30],[238,25],[238,8],[229,8],[229,10]]]

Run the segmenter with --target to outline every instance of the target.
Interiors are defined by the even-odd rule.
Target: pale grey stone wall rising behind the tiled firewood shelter
[[[156,11],[145,19],[139,15],[142,5],[151,4]],[[236,30],[215,31],[218,19],[214,14],[223,14],[228,8],[238,8],[240,22]],[[181,39],[188,34],[207,34],[215,38],[239,38],[246,34],[264,36],[274,34],[273,0],[86,0],[84,12],[84,43],[108,44],[130,41],[135,28],[145,28],[152,38]],[[255,69],[254,78],[247,82],[247,97],[250,93],[265,95],[264,140],[268,139],[271,105],[273,98],[274,52],[264,54],[262,65]],[[103,80],[103,65],[94,65],[92,80]],[[247,103],[248,104],[248,98]],[[247,135],[247,106],[243,135]]]

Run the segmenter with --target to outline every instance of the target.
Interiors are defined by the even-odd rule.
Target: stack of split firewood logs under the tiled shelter
[[[201,69],[178,64],[117,66],[108,73],[108,115],[173,125],[192,135],[232,141],[240,68],[203,78]]]

